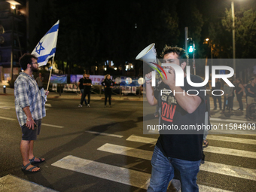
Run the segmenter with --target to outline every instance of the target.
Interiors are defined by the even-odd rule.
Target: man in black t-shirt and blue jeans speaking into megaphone
[[[152,72],[145,75],[148,102],[161,108],[160,136],[151,160],[152,172],[148,191],[166,191],[169,181],[174,177],[174,170],[181,180],[182,192],[199,191],[197,173],[200,171],[203,151],[201,126],[204,124],[206,111],[205,94],[200,90],[206,88],[193,87],[187,83],[184,70],[187,66],[187,53],[184,49],[166,46],[162,56],[162,63],[175,64],[183,69],[184,86],[175,85],[175,71],[176,76],[181,75],[174,70],[175,67],[165,67],[161,72],[162,83],[157,87],[160,91],[154,91],[152,87]],[[190,79],[194,83],[203,82],[196,75],[190,75]]]

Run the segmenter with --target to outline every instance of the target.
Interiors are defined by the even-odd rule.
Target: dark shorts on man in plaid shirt
[[[31,141],[36,140],[37,136],[40,134],[41,131],[41,119],[40,120],[34,120],[36,123],[36,126],[34,126],[34,130],[29,129],[29,127],[25,125],[21,126],[21,130],[23,133],[22,140]]]

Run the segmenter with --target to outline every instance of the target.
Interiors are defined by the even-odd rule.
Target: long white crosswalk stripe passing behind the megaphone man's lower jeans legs
[[[66,156],[52,164],[62,169],[68,169],[75,172],[81,172],[86,175],[92,175],[97,178],[103,178],[109,181],[115,181],[121,184],[127,184],[133,187],[148,189],[151,174],[139,172],[132,169],[126,169],[119,166],[111,166],[105,163],[99,163],[93,160],[86,160],[72,155]],[[211,192],[231,192],[230,190],[221,190],[215,187],[208,187],[198,184],[200,191]]]

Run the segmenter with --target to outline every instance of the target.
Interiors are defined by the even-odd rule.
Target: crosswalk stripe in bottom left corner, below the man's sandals
[[[56,192],[50,188],[44,187],[40,184],[35,184],[31,181],[26,181],[23,178],[17,178],[14,175],[5,175],[0,178],[0,191],[19,191],[19,192]]]

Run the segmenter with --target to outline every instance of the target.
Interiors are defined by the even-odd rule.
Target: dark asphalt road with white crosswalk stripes
[[[113,101],[112,108],[103,108],[102,100],[93,100],[91,108],[78,108],[78,103],[48,100],[35,142],[36,157],[46,162],[41,172],[24,174],[14,96],[0,95],[0,191],[31,191],[37,186],[42,187],[38,191],[146,191],[158,135],[143,134],[142,127],[143,117],[144,123],[157,122],[154,108],[139,101]],[[224,125],[239,122],[243,121],[236,116],[212,120]],[[208,136],[197,179],[200,191],[255,191],[256,136],[251,133]]]

